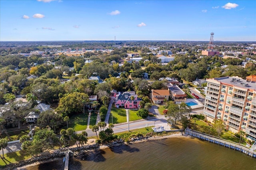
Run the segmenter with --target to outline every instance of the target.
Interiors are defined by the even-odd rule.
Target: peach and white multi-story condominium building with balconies
[[[243,130],[256,140],[256,75],[207,79],[204,115],[221,119],[232,132]]]

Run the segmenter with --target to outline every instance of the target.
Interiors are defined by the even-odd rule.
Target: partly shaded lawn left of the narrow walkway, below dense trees
[[[86,130],[88,123],[88,113],[85,115],[83,113],[79,115],[73,115],[70,117],[70,121],[71,120],[74,120],[74,123],[69,124],[69,128],[74,128],[75,131]]]

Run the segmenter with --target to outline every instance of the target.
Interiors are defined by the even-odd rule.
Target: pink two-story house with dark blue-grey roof
[[[134,100],[131,97],[134,97]],[[140,107],[140,98],[134,91],[126,91],[116,97],[116,107],[124,107],[125,109],[138,109]]]

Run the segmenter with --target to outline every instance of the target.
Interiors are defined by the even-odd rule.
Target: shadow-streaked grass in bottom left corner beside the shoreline
[[[11,164],[14,162],[31,158],[31,156],[29,154],[26,154],[24,150],[4,154],[4,157],[5,157],[4,159],[0,159],[0,169],[1,169],[1,166],[4,166],[6,164]]]

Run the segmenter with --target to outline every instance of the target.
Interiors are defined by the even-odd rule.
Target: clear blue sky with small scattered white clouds
[[[0,0],[0,41],[256,41],[255,0]]]

